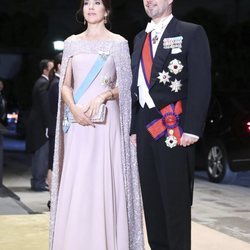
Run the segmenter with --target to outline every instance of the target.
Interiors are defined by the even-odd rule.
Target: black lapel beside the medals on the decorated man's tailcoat
[[[153,60],[153,66],[152,66],[152,73],[151,73],[151,85],[150,88],[154,85],[155,81],[157,80],[159,72],[162,72],[162,67],[164,66],[164,63],[169,56],[169,53],[171,49],[164,49],[163,48],[163,40],[164,38],[168,37],[175,37],[178,34],[176,34],[176,23],[177,19],[173,17],[173,19],[168,24],[167,28],[162,34],[161,40],[159,42],[154,60]]]

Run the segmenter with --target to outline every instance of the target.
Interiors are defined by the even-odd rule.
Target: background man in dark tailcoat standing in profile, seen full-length
[[[49,71],[53,62],[44,59],[40,62],[41,76],[35,82],[32,92],[32,109],[27,125],[27,151],[32,153],[31,189],[48,191],[46,176],[48,171],[48,86]]]

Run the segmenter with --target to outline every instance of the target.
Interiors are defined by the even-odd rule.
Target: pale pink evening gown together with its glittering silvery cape
[[[120,99],[124,99],[123,104],[128,109],[126,95],[129,95],[129,86],[120,86],[125,79],[122,79],[119,72],[130,72],[127,42],[73,39],[70,49],[73,52],[67,58],[72,60],[74,92],[82,84],[99,54],[109,54],[101,72],[78,104],[84,105],[102,92],[118,86]],[[126,53],[123,66],[119,65],[118,53]],[[63,62],[62,78],[68,60]],[[124,77],[130,80],[129,75]],[[134,160],[131,161],[134,156],[127,155],[132,150],[125,138],[128,137],[126,128],[130,112],[124,111],[128,117],[120,115],[122,107],[119,107],[119,102],[121,104],[121,100],[107,101],[108,111],[103,124],[91,127],[73,123],[61,142],[59,122],[59,143],[55,149],[55,169],[59,170],[54,171],[57,175],[53,177],[54,194],[52,190],[53,250],[143,249],[137,166]],[[58,120],[61,118],[58,117]],[[56,194],[55,188],[58,190]],[[134,234],[137,235],[136,239],[131,238]]]

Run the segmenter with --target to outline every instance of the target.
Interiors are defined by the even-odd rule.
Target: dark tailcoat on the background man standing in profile
[[[33,87],[32,108],[26,131],[26,150],[31,153],[48,141],[46,137],[46,128],[49,125],[48,86],[49,81],[41,76]]]

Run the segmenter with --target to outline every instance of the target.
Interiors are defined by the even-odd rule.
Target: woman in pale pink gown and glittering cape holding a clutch
[[[83,1],[87,29],[65,41],[52,183],[53,250],[144,249],[136,156],[129,142],[129,49],[105,27],[110,6],[110,0]],[[95,123],[102,104],[105,120]],[[73,122],[63,135],[64,111]]]

